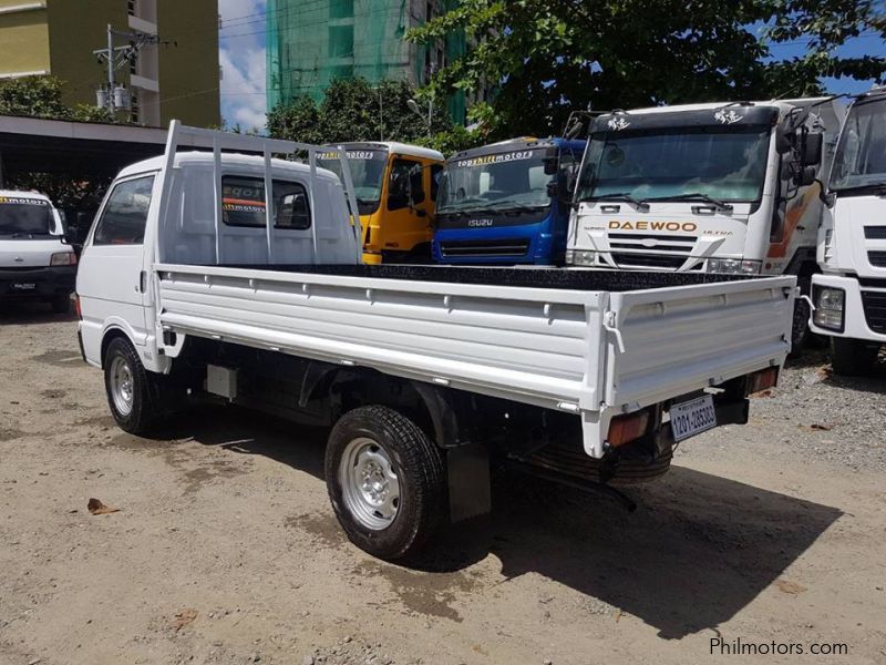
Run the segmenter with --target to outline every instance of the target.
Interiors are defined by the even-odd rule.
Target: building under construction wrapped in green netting
[[[336,79],[363,76],[424,84],[465,50],[464,34],[436,43],[403,39],[409,28],[449,11],[457,0],[268,0],[268,109],[308,95],[321,100]],[[463,122],[465,96],[449,101]]]

